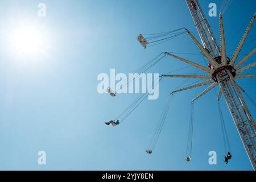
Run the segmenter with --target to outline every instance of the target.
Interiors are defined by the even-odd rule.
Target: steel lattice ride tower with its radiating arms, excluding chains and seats
[[[186,0],[186,2],[191,12],[192,18],[195,22],[197,31],[199,32],[199,36],[201,38],[203,46],[201,46],[201,44],[196,40],[191,32],[189,32],[189,30],[185,30],[192,38],[193,42],[196,43],[196,46],[200,49],[203,55],[208,59],[208,68],[187,59],[183,59],[182,57],[172,55],[168,52],[166,52],[166,55],[175,57],[176,59],[183,61],[187,64],[191,64],[194,67],[209,73],[209,75],[163,75],[163,77],[207,78],[207,81],[203,81],[199,84],[188,86],[186,88],[175,90],[174,92],[172,92],[176,93],[183,90],[196,88],[197,86],[212,84],[206,90],[204,90],[204,92],[199,94],[199,96],[193,99],[193,101],[197,100],[205,93],[209,92],[209,90],[215,88],[217,85],[220,85],[218,100],[220,100],[220,97],[223,93],[226,103],[228,104],[230,113],[232,114],[234,123],[237,127],[237,131],[240,134],[243,146],[245,147],[245,150],[247,152],[247,155],[249,156],[250,162],[254,170],[256,170],[256,125],[253,117],[251,117],[248,107],[246,106],[245,100],[242,97],[241,92],[244,92],[244,90],[239,85],[237,85],[235,81],[236,78],[256,77],[256,75],[239,75],[239,73],[256,65],[256,63],[253,63],[240,68],[240,66],[245,63],[245,61],[249,59],[249,57],[253,55],[254,52],[256,52],[256,48],[254,48],[246,57],[244,57],[235,65],[237,57],[254,22],[256,14],[254,14],[253,19],[251,19],[251,22],[247,27],[245,34],[241,39],[241,42],[238,44],[238,47],[234,52],[232,59],[230,60],[229,57],[226,56],[222,14],[220,14],[220,48],[216,42],[216,39],[214,38],[209,23],[207,22],[207,19],[205,18],[204,13],[201,10],[199,2],[197,0]]]

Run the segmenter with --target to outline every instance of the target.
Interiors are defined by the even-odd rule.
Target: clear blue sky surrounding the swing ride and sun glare
[[[37,16],[39,2],[42,1],[0,2],[0,169],[252,169],[222,97],[233,155],[228,165],[223,162],[226,151],[214,91],[195,103],[193,157],[190,163],[184,162],[190,102],[204,87],[176,94],[154,155],[146,154],[168,94],[180,86],[183,78],[164,78],[159,99],[144,101],[122,125],[104,124],[115,119],[138,96],[121,94],[112,98],[98,94],[98,74],[109,74],[111,68],[130,73],[164,51],[200,54],[187,34],[145,50],[136,40],[140,33],[180,27],[197,35],[185,1],[43,1],[47,6],[46,18]],[[219,8],[222,1],[199,2],[207,15],[209,3],[215,2]],[[250,0],[233,1],[224,14],[230,57],[255,13],[255,4]],[[207,15],[207,19],[219,42],[218,17]],[[6,32],[20,24],[36,26],[47,37],[44,55],[18,57],[10,51]],[[255,32],[254,24],[240,59],[255,47]],[[197,63],[204,61],[201,55],[177,55]],[[247,64],[254,61],[255,55]],[[162,74],[186,66],[167,57],[150,72]],[[195,72],[196,68],[187,68],[175,73]],[[255,73],[255,69],[247,73]],[[195,81],[189,80],[182,86]],[[253,83],[254,78],[238,81],[256,100]],[[255,117],[254,105],[245,99]],[[37,154],[41,150],[47,154],[46,166],[38,164]],[[217,152],[217,165],[211,166],[208,152],[212,150]]]

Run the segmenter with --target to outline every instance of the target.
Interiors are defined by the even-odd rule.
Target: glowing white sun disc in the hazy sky
[[[44,51],[45,39],[34,27],[19,27],[10,34],[11,48],[18,55],[39,55]]]

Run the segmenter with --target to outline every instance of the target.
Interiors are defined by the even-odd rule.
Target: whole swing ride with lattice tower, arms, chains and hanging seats
[[[246,71],[247,69],[253,68],[256,65],[256,63],[253,63],[253,64],[246,65],[245,67],[242,67],[242,65],[246,62],[246,60],[248,60],[249,57],[251,57],[256,52],[256,48],[254,48],[242,60],[239,60],[238,63],[236,63],[238,60],[238,55],[240,55],[243,44],[245,43],[245,40],[247,38],[247,35],[249,34],[251,26],[253,25],[256,14],[254,14],[253,18],[250,20],[249,26],[246,28],[246,31],[243,34],[242,39],[238,44],[236,51],[234,51],[234,54],[230,59],[226,53],[226,42],[225,42],[224,23],[223,23],[222,15],[227,9],[227,7],[230,5],[231,1],[230,0],[224,1],[225,5],[223,5],[221,8],[221,13],[220,13],[221,45],[220,47],[218,46],[217,41],[214,37],[214,34],[209,26],[209,23],[205,18],[203,11],[201,10],[199,2],[197,0],[186,0],[186,2],[189,8],[189,11],[191,12],[192,18],[195,22],[197,31],[199,32],[199,36],[200,36],[201,42],[203,43],[203,46],[199,43],[199,41],[195,38],[195,36],[193,36],[192,32],[189,31],[187,28],[179,28],[173,31],[162,32],[159,34],[148,34],[148,35],[140,34],[138,36],[138,41],[139,43],[141,43],[141,45],[144,48],[147,48],[150,46],[155,46],[157,44],[164,43],[168,40],[176,38],[177,36],[187,33],[189,37],[193,40],[193,42],[196,44],[196,46],[200,49],[200,52],[203,54],[203,56],[209,61],[208,67],[204,67],[203,65],[197,64],[193,61],[176,56],[173,53],[164,52],[164,53],[161,53],[155,59],[144,64],[139,70],[146,72],[148,69],[150,69],[156,63],[158,63],[164,57],[170,56],[179,61],[187,63],[193,67],[196,67],[197,69],[200,69],[201,71],[206,72],[206,74],[205,75],[162,75],[159,77],[160,81],[164,77],[200,78],[200,79],[207,79],[207,80],[199,82],[197,84],[187,86],[185,88],[174,90],[170,94],[166,103],[166,107],[164,107],[163,113],[159,119],[158,127],[156,127],[155,129],[155,135],[152,137],[150,145],[148,146],[148,149],[146,150],[146,152],[147,154],[152,154],[152,152],[154,151],[159,135],[163,129],[164,122],[166,121],[168,110],[170,108],[172,97],[174,96],[174,94],[178,92],[182,92],[184,90],[189,90],[189,89],[197,88],[199,86],[210,84],[210,86],[207,89],[205,89],[202,93],[196,96],[191,102],[187,154],[185,156],[185,161],[190,162],[192,158],[191,153],[192,153],[192,143],[193,143],[192,141],[193,141],[194,103],[196,100],[203,97],[206,93],[208,93],[210,90],[216,88],[216,86],[219,85],[220,89],[218,92],[217,101],[220,101],[221,96],[224,95],[226,103],[230,110],[230,114],[232,115],[234,123],[237,127],[238,134],[240,135],[240,138],[242,140],[243,146],[245,147],[245,150],[247,152],[251,165],[253,166],[253,169],[256,170],[256,125],[245,103],[242,93],[244,93],[251,102],[253,102],[253,100],[245,92],[245,90],[243,90],[241,86],[238,85],[237,82],[235,81],[241,78],[256,77],[256,75],[241,74],[242,72]],[[160,57],[161,55],[163,56]],[[150,65],[150,67],[148,67],[148,65]],[[119,119],[120,122],[123,122],[143,102],[143,100],[147,97],[148,93],[142,94],[141,96],[139,96],[130,106],[128,106],[117,117],[117,119]],[[110,92],[110,94],[112,93]],[[253,104],[255,106],[255,102],[253,102]],[[220,115],[221,131],[222,131],[222,136],[224,138],[225,150],[228,153],[228,155],[225,156],[225,162],[228,163],[227,161],[231,159],[231,155],[230,155],[231,149],[230,149],[230,144],[228,140],[228,135],[226,133],[226,126],[225,126],[220,102],[218,102],[218,111]]]

